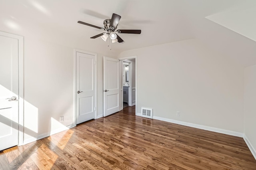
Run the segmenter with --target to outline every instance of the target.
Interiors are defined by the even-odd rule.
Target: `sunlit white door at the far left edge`
[[[16,145],[18,145],[18,40],[0,36],[0,150]]]

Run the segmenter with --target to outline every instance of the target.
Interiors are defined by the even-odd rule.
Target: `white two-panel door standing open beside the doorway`
[[[104,117],[119,111],[119,60],[104,57]]]

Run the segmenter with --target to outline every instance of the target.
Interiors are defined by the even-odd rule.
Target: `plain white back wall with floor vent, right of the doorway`
[[[243,67],[198,40],[124,51],[118,57],[133,55],[140,75],[138,112],[149,107],[153,116],[243,132]]]

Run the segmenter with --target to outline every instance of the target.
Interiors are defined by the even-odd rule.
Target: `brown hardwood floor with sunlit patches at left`
[[[256,170],[243,138],[134,115],[135,107],[0,153],[0,170]]]

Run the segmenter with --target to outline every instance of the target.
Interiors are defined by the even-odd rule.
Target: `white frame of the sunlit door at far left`
[[[24,40],[22,36],[1,32],[0,36],[14,38],[18,40],[18,146],[24,142]]]

